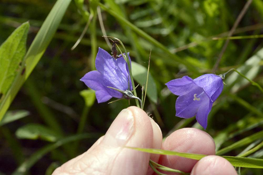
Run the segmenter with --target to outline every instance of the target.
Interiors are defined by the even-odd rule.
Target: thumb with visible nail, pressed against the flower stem
[[[149,117],[137,107],[122,110],[92,151],[70,166],[63,164],[53,174],[145,174],[150,154],[123,146],[153,146]]]

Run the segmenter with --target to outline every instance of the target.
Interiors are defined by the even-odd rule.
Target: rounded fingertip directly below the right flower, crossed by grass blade
[[[183,128],[173,132],[163,143],[163,150],[215,155],[215,142],[204,131],[195,128]],[[159,163],[166,167],[191,172],[197,160],[178,156],[161,155]]]

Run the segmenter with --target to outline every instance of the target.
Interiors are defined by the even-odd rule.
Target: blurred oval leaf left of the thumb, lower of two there
[[[49,142],[57,141],[61,137],[56,131],[40,124],[22,126],[16,131],[16,136],[19,139],[41,139]]]

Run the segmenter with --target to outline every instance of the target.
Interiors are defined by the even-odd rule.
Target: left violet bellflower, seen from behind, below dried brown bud
[[[88,72],[80,79],[89,88],[93,89],[96,94],[98,103],[106,102],[112,97],[122,98],[123,94],[112,88],[120,90],[128,89],[129,69],[128,64],[122,57],[116,60],[107,51],[99,47],[98,54],[95,60],[95,67],[97,71]],[[130,60],[129,54],[128,58]],[[131,80],[130,89],[132,90]],[[108,86],[108,87],[107,87]]]

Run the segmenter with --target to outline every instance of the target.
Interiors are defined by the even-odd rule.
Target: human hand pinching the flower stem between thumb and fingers
[[[210,156],[197,161],[178,156],[149,154],[124,146]],[[153,174],[149,167],[149,159],[166,167],[191,172],[191,175],[237,174],[226,159],[215,156],[215,142],[206,132],[195,128],[183,128],[173,132],[162,143],[161,130],[155,121],[143,110],[129,107],[119,113],[106,134],[87,152],[64,163],[53,175]]]

